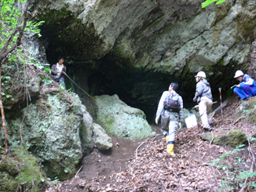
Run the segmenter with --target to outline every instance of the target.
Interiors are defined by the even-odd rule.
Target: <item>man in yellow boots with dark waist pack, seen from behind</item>
[[[177,82],[172,82],[169,86],[169,91],[163,92],[159,100],[155,118],[155,123],[158,124],[159,118],[161,117],[161,131],[166,138],[167,153],[172,156],[175,156],[175,134],[179,126],[181,126],[181,122],[183,122],[183,100],[177,94],[177,88]]]

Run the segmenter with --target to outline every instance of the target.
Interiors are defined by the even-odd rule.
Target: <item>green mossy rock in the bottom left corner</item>
[[[24,191],[31,186],[32,180],[34,186],[30,191],[43,191],[47,179],[46,173],[40,167],[39,159],[21,148],[16,148],[9,156],[13,158],[5,158],[0,165],[0,191],[16,191],[17,187]]]

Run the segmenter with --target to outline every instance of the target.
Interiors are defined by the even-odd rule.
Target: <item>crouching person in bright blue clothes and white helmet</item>
[[[248,74],[243,74],[243,71],[236,71],[234,76],[240,84],[236,85],[234,93],[240,96],[241,100],[248,100],[256,95],[256,83],[253,78]]]

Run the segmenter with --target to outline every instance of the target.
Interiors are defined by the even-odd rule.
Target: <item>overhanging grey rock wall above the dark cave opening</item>
[[[59,27],[52,34],[56,43],[61,42],[55,52],[61,49],[74,60],[99,59],[111,52],[128,59],[120,64],[168,74],[181,73],[185,67],[196,72],[218,62],[225,66],[231,60],[236,64],[248,60],[255,2],[230,0],[206,9],[200,4],[198,0],[57,0],[35,1],[34,9],[35,18],[46,20],[46,27]],[[70,47],[80,49],[76,58],[68,54]]]

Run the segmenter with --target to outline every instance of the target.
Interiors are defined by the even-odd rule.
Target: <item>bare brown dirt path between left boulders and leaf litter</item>
[[[154,129],[159,132],[158,127],[154,126]],[[127,161],[134,158],[135,151],[143,140],[111,137],[112,150],[102,152],[94,148],[90,155],[83,158],[81,169],[73,179],[59,182],[56,187],[49,187],[46,191],[85,191],[86,183],[93,182],[96,178],[101,178],[104,185],[112,183],[112,175],[126,170]]]

